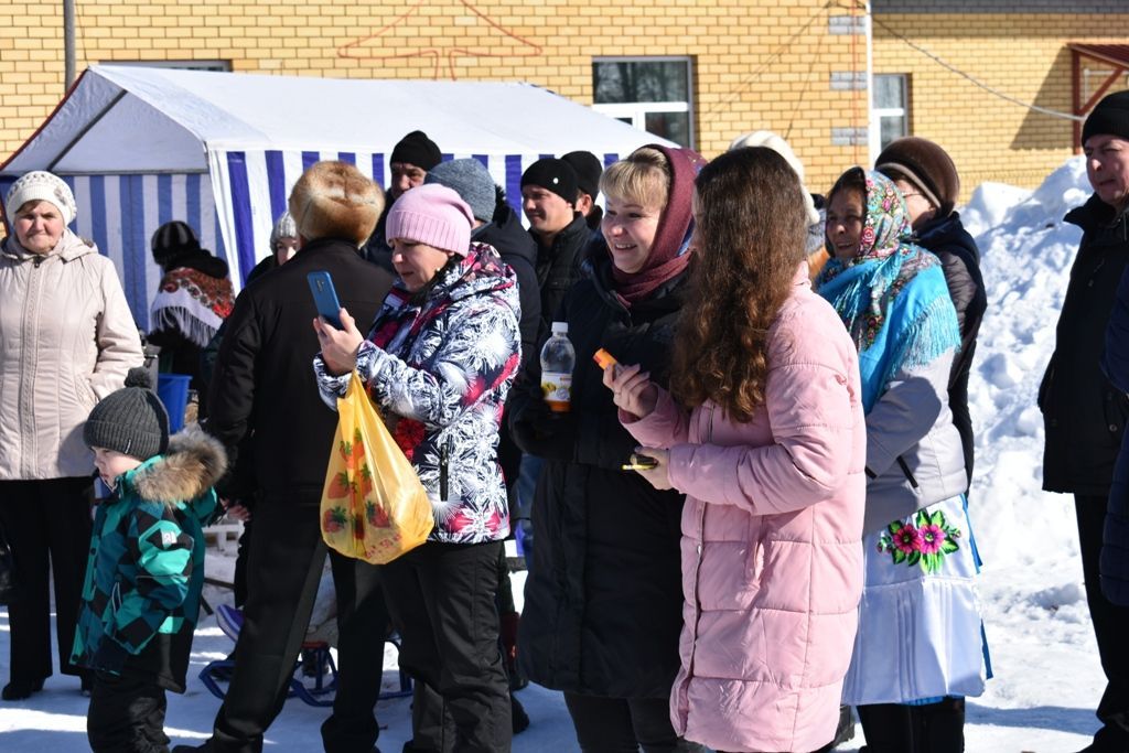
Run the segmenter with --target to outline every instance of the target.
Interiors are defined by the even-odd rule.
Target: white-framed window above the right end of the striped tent
[[[593,110],[692,147],[689,58],[614,58],[592,63]]]

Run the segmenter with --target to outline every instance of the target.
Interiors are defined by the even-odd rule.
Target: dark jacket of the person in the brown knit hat
[[[969,375],[977,351],[977,334],[988,308],[988,294],[980,275],[980,251],[956,212],[921,228],[918,243],[940,259],[948,295],[956,307],[956,321],[961,325],[961,350],[953,359],[953,369],[948,375],[948,406],[953,411],[953,424],[961,432],[964,472],[971,484],[973,436],[972,415],[969,413]]]

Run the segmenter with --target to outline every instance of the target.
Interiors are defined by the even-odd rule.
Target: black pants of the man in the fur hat
[[[235,669],[216,715],[211,747],[257,753],[282,710],[295,662],[325,564],[318,500],[270,498],[255,507],[247,561],[247,603],[235,647]],[[379,729],[373,708],[380,692],[387,613],[378,569],[330,552],[338,596],[338,692],[322,725],[329,753],[369,753]]]

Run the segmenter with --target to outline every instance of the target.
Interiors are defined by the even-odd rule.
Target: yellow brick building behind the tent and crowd
[[[525,80],[707,156],[744,131],[778,131],[813,190],[883,137],[913,133],[948,148],[965,195],[988,180],[1035,185],[1068,157],[1074,99],[1115,70],[1083,58],[1075,87],[1068,45],[1129,41],[1124,0],[872,0],[873,18],[851,0],[75,2],[78,70]],[[59,2],[0,7],[0,157],[63,94],[62,27]],[[1113,88],[1124,87],[1121,70]],[[414,125],[411,112],[390,117]]]

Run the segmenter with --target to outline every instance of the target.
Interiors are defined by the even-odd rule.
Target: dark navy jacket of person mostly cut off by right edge
[[[1105,330],[1102,369],[1121,393],[1129,393],[1129,271],[1121,274],[1118,298]],[[1110,506],[1101,554],[1102,593],[1120,606],[1129,606],[1129,434],[1113,467]]]

